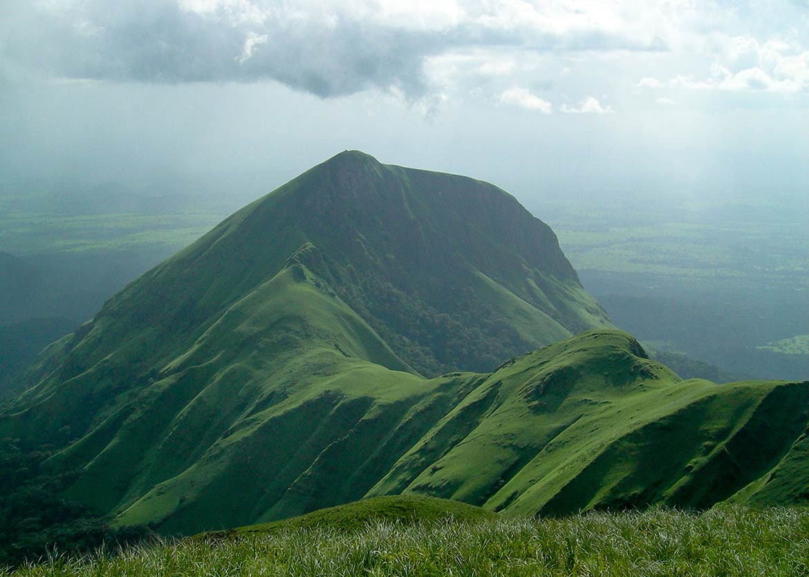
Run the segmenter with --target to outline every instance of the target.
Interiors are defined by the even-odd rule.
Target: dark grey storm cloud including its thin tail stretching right
[[[661,42],[598,31],[570,35],[479,26],[399,27],[342,10],[331,19],[289,17],[283,3],[223,3],[210,11],[176,2],[61,2],[37,10],[6,5],[6,61],[67,78],[138,82],[252,82],[273,79],[320,97],[369,87],[426,93],[426,57],[452,48],[514,45],[544,51],[659,49]]]

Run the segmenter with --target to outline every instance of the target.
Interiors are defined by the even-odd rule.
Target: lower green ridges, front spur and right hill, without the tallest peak
[[[254,298],[263,309],[242,301],[252,316],[237,307],[222,318],[176,360],[179,377],[155,381],[51,458],[83,468],[67,496],[161,533],[400,493],[520,515],[806,499],[809,383],[681,381],[620,331],[583,333],[490,375],[424,380],[359,360],[396,357],[347,307],[330,308],[330,297],[291,272]],[[313,339],[269,357],[272,347],[237,347],[244,356],[225,369],[222,352],[202,362],[219,331],[261,342],[269,333],[248,327],[272,326],[290,339],[293,327],[322,331],[300,319],[324,315],[344,315],[339,339],[350,356]],[[263,362],[289,380],[263,388]],[[244,378],[254,371],[255,381]],[[235,378],[238,395],[228,392]],[[36,413],[19,417],[27,415]]]

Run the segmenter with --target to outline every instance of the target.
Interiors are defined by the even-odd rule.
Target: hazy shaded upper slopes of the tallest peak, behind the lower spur
[[[144,329],[161,341],[182,339],[205,330],[305,242],[324,257],[320,276],[421,373],[491,368],[605,322],[553,232],[513,197],[361,153],[340,154],[235,213],[113,297],[97,322],[119,341]],[[530,333],[499,314],[514,309],[512,294],[519,318],[532,317]],[[99,352],[85,364],[112,348],[91,340]]]

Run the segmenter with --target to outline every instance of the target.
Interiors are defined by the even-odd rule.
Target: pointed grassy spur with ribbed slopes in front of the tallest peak
[[[375,471],[404,452],[400,440],[421,436],[462,383],[429,386],[362,360],[407,369],[318,284],[291,263],[232,305],[154,382],[55,458],[62,468],[83,466],[68,495],[120,511],[122,522],[156,520],[167,531],[361,497],[373,474],[381,476]],[[328,451],[354,461],[344,458],[341,471],[330,465],[327,492],[296,494],[299,478],[328,461]],[[361,473],[357,482],[350,473]]]

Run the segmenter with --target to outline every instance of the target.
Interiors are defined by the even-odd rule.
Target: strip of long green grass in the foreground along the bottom
[[[809,511],[652,509],[554,520],[376,520],[218,534],[0,575],[809,575]]]

